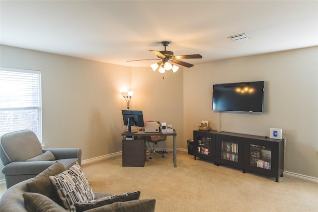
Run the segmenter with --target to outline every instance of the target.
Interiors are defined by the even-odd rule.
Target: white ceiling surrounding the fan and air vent
[[[317,0],[1,0],[0,43],[146,67],[161,41],[191,64],[318,45]],[[248,34],[235,42],[229,36]],[[155,61],[156,62],[156,61]]]

